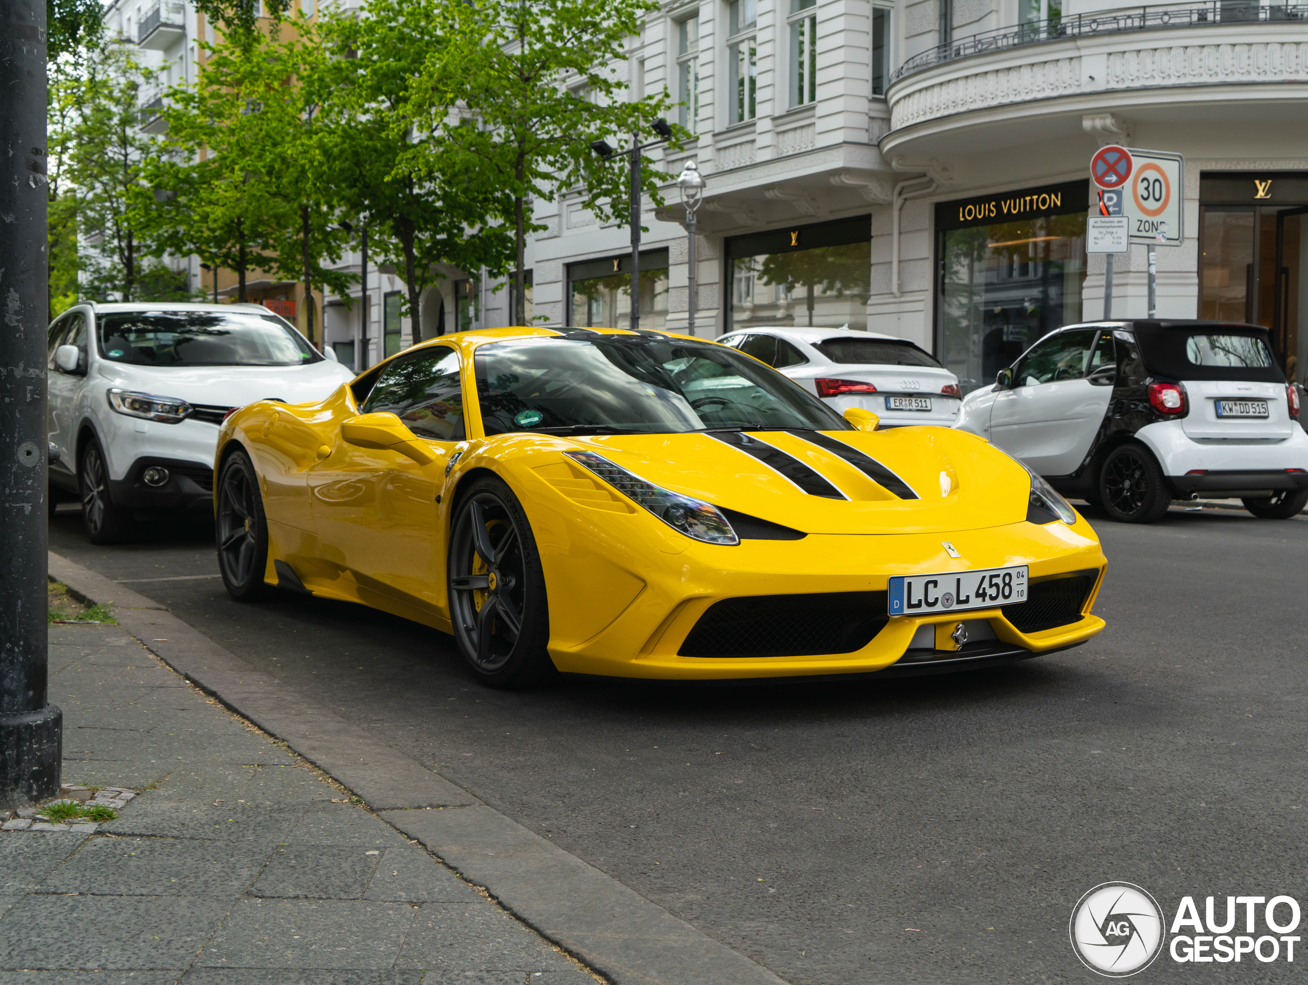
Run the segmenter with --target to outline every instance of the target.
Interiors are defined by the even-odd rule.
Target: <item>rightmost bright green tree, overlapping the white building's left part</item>
[[[405,10],[413,10],[413,7]],[[544,226],[531,215],[532,199],[562,188],[589,190],[586,207],[600,218],[625,221],[629,201],[627,158],[602,161],[595,140],[621,148],[632,133],[653,136],[654,120],[672,107],[667,92],[627,98],[619,64],[625,44],[641,33],[657,0],[466,0],[430,3],[432,34],[411,82],[409,123],[432,139],[415,144],[400,170],[437,181],[456,175],[467,191],[489,203],[484,222],[513,233],[513,320],[526,320],[527,234]],[[687,136],[676,128],[676,139]],[[679,145],[679,144],[675,144]],[[662,204],[650,161],[642,187]]]

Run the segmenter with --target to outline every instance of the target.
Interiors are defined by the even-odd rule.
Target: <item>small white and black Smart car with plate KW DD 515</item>
[[[989,438],[1063,496],[1116,521],[1159,519],[1173,498],[1235,497],[1287,519],[1308,505],[1308,434],[1257,324],[1138,320],[1046,335],[957,426]]]

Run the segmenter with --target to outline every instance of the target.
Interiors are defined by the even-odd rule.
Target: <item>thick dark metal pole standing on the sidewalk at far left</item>
[[[47,704],[46,3],[9,0],[0,38],[0,808],[59,793],[63,713]]]

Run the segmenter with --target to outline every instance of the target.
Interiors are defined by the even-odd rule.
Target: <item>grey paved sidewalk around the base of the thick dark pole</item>
[[[118,627],[51,627],[95,833],[0,832],[0,985],[595,985]]]

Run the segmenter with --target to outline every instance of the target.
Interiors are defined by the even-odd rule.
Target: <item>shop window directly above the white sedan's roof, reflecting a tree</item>
[[[727,331],[753,324],[866,330],[869,230],[862,216],[727,241]]]

